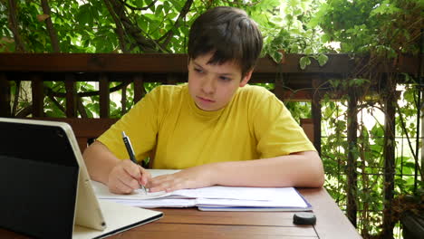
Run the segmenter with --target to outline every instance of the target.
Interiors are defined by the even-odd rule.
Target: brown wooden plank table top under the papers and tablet
[[[197,208],[159,208],[164,212],[164,217],[159,221],[109,238],[361,238],[325,189],[299,191],[313,206],[316,225],[294,225],[294,212],[202,212]],[[0,229],[0,238],[28,237]]]

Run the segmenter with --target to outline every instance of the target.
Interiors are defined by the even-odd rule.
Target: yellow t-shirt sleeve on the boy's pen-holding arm
[[[106,130],[99,141],[120,159],[130,158],[122,140],[121,132],[130,138],[137,160],[149,156],[155,147],[158,134],[158,88],[146,94],[120,120]]]

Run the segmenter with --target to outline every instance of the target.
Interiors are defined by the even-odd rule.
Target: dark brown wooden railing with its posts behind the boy
[[[346,54],[329,55],[329,61],[320,67],[317,62],[313,62],[304,71],[299,68],[299,60],[302,55],[285,55],[284,64],[275,63],[269,58],[260,59],[257,62],[255,72],[252,75],[251,83],[274,83],[275,95],[280,100],[306,100],[312,102],[313,119],[302,120],[303,128],[308,137],[313,139],[313,144],[321,152],[321,100],[326,89],[326,84],[330,79],[346,79],[352,77],[352,73],[361,69],[367,63],[367,58],[352,59]],[[386,97],[383,105],[386,111],[385,137],[387,142],[394,142],[394,117],[396,91],[392,88],[393,81],[403,81],[402,74],[394,74],[395,78],[388,77],[391,73],[410,73],[419,78],[418,75],[419,57],[400,56],[396,64],[375,64],[373,72],[380,76],[378,82],[371,82],[374,85],[390,87],[384,88]],[[121,84],[134,84],[134,100],[138,101],[144,94],[144,82],[160,82],[165,84],[175,84],[187,81],[187,55],[184,54],[20,54],[20,53],[0,53],[0,117],[12,117],[10,100],[10,81],[31,81],[32,86],[32,107],[27,108],[33,117],[44,117],[43,100],[44,97],[64,97],[66,106],[64,111],[68,119],[63,119],[72,123],[77,134],[82,137],[81,148],[86,140],[92,135],[98,135],[104,127],[108,127],[116,119],[108,119],[110,116],[110,93],[117,88],[110,88],[111,81],[119,81]],[[366,77],[366,76],[364,76]],[[49,92],[43,87],[44,81],[63,81],[65,92]],[[97,81],[99,91],[77,92],[76,81]],[[122,88],[122,103],[125,105],[125,88]],[[422,91],[422,89],[420,89]],[[357,143],[358,122],[356,112],[358,109],[358,99],[354,91],[344,91],[341,94],[349,95],[348,103],[348,134],[347,141],[350,144]],[[87,124],[99,122],[97,119],[75,119],[77,112],[82,118],[86,117],[81,104],[81,97],[97,94],[100,95],[100,117],[102,124],[96,129],[87,131]],[[390,96],[390,97],[387,97]],[[333,96],[337,98],[336,96]],[[62,106],[60,106],[62,107]],[[122,108],[125,110],[125,107]],[[77,111],[78,110],[78,111]],[[103,120],[104,119],[104,120]],[[311,124],[312,122],[312,124]],[[79,128],[78,124],[82,127]],[[99,128],[99,129],[98,129]],[[85,139],[85,137],[87,139]],[[85,141],[84,141],[85,140]],[[390,210],[390,200],[393,198],[393,165],[394,148],[392,143],[384,144],[385,168],[384,168],[384,201]],[[347,167],[347,215],[353,225],[356,225],[356,194],[357,176],[354,155],[348,150]],[[389,186],[387,186],[389,185]],[[390,215],[387,213],[386,215]]]

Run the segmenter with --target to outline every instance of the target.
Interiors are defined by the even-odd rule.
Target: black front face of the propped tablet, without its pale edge
[[[0,227],[72,238],[78,173],[60,127],[0,122]]]

